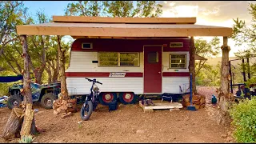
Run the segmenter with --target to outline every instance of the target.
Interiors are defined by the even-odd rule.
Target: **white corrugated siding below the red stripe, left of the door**
[[[90,78],[93,79],[93,78]],[[143,78],[97,78],[96,84],[104,92],[130,92],[143,94]],[[92,82],[85,78],[66,78],[67,89],[70,94],[89,94]]]

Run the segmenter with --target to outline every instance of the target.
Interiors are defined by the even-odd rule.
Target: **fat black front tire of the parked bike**
[[[85,102],[80,110],[80,116],[83,121],[87,121],[93,113],[93,103],[91,101]]]

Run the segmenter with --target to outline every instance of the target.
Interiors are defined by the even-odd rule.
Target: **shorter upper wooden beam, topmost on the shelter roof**
[[[110,18],[86,16],[53,16],[54,22],[94,22],[94,23],[163,23],[163,24],[194,24],[196,18]]]

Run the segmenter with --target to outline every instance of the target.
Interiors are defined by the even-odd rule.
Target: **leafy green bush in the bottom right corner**
[[[246,99],[230,109],[237,142],[256,142],[256,98]]]

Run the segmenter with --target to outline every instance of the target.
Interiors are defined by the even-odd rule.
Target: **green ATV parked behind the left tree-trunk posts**
[[[46,109],[51,109],[53,102],[58,98],[58,94],[61,91],[61,83],[54,82],[46,85],[39,85],[31,82],[32,102],[41,102],[41,105]],[[9,88],[10,97],[7,101],[7,106],[11,110],[14,106],[19,106],[22,103],[23,85],[14,84]]]

